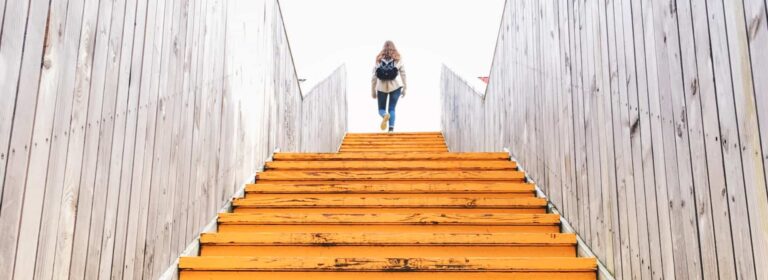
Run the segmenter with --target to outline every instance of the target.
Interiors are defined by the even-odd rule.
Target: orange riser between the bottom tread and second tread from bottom
[[[226,246],[203,245],[201,256],[253,257],[576,257],[575,246]]]

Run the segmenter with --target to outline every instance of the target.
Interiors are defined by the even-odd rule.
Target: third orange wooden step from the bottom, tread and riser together
[[[220,213],[219,232],[547,232],[560,231],[555,214],[485,213]]]

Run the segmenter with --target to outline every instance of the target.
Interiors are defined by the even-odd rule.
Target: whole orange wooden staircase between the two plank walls
[[[278,153],[179,260],[188,279],[595,279],[505,153],[440,133],[348,134]]]

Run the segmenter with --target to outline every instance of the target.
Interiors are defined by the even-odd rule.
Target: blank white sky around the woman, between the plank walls
[[[308,91],[347,65],[349,131],[378,131],[370,97],[374,58],[393,40],[407,69],[396,131],[440,130],[440,65],[487,76],[504,0],[280,0],[302,85]]]

